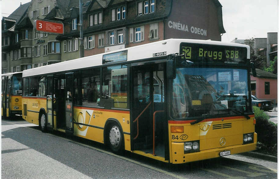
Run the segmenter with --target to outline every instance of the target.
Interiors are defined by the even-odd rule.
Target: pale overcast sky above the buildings
[[[226,33],[222,41],[237,39],[266,38],[268,32],[278,32],[279,0],[219,0],[223,12]],[[2,16],[9,16],[20,2],[30,0],[1,0]]]

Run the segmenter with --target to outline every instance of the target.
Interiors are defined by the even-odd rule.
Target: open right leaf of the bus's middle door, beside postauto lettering
[[[74,108],[73,108],[73,90],[74,89],[74,73],[66,73],[65,80],[65,120],[66,132],[74,133]]]

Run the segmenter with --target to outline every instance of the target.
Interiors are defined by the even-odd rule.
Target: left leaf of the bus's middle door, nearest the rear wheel
[[[46,96],[46,115],[47,126],[53,128],[53,102],[55,97],[53,96],[53,75],[47,76],[47,96]]]

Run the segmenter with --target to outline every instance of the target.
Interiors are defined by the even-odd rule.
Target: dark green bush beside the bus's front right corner
[[[269,116],[253,106],[256,125],[255,132],[258,134],[257,149],[263,153],[277,155],[277,124],[269,121]]]

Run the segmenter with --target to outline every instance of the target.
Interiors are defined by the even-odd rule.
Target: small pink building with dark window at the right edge
[[[252,95],[259,99],[276,99],[277,103],[277,75],[256,69],[257,77],[251,73]]]

